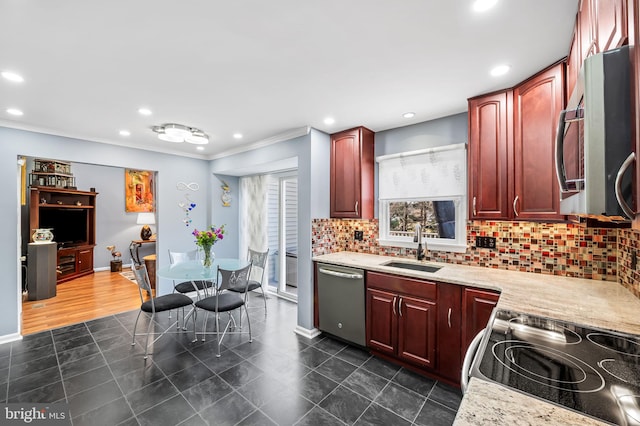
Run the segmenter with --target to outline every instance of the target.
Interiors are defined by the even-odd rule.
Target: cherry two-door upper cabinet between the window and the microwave
[[[562,219],[554,163],[564,63],[469,100],[469,217]]]

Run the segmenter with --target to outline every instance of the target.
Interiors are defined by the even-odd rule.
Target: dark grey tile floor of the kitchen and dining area
[[[130,344],[137,311],[0,345],[0,398],[66,402],[74,425],[453,422],[458,389],[328,337],[300,337],[295,304],[271,297],[265,318],[262,303],[251,303],[253,343],[227,336],[220,358],[215,336],[192,343],[190,331],[162,337],[145,361],[143,340]]]

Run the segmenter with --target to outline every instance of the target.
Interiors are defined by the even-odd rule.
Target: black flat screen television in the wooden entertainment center
[[[40,228],[51,229],[58,245],[88,244],[87,213],[86,209],[40,209]]]

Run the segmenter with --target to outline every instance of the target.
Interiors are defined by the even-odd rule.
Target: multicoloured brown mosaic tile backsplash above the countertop
[[[363,231],[362,241],[354,240],[356,230]],[[621,282],[634,289],[638,296],[638,271],[631,270],[631,255],[626,253],[632,247],[638,250],[639,233],[572,223],[470,221],[465,253],[427,251],[425,260],[617,281],[618,251],[621,250]],[[476,248],[476,236],[495,237],[496,249]],[[312,222],[314,256],[346,250],[415,258],[415,249],[381,247],[377,239],[377,219],[314,219]],[[619,239],[624,241],[625,248],[618,248]]]

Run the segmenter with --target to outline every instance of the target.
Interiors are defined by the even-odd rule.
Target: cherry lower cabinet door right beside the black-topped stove
[[[462,355],[476,334],[487,326],[499,295],[489,290],[465,288],[462,293]]]

